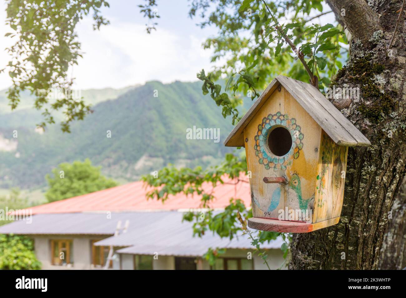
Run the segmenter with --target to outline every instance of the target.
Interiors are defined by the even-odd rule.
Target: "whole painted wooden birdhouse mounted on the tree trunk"
[[[317,88],[279,75],[224,144],[245,147],[248,226],[306,233],[338,223],[348,147],[370,142]]]

